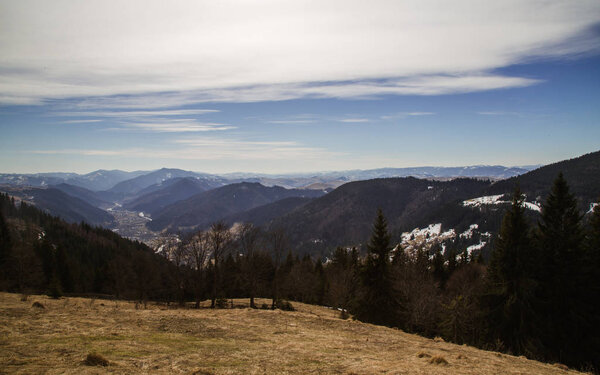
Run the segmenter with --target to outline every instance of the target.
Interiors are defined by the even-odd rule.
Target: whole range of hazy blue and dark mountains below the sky
[[[377,208],[382,208],[394,241],[407,241],[415,233],[443,232],[452,246],[486,249],[516,184],[527,195],[533,221],[561,171],[583,211],[600,199],[600,152],[528,172],[534,167],[382,168],[289,175],[212,175],[167,168],[86,175],[2,174],[0,191],[69,222],[112,228],[118,225],[111,215],[115,210],[143,215],[139,225],[143,228],[147,221],[154,231],[204,229],[217,220],[278,227],[286,230],[298,251],[320,255],[335,246],[364,243]],[[407,237],[404,232],[413,234]]]

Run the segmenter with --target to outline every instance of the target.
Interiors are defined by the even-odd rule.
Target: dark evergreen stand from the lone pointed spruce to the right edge
[[[584,220],[562,174],[537,223],[523,203],[517,187],[487,265],[394,251],[379,211],[351,310],[375,324],[598,371],[600,207]]]

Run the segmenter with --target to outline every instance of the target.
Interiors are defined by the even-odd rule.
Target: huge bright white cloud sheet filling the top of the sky
[[[597,51],[600,19],[597,0],[20,0],[0,10],[0,103],[96,97],[82,108],[523,87],[539,81],[494,71]]]

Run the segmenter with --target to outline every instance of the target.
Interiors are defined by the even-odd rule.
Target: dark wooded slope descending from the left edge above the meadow
[[[4,194],[0,212],[11,239],[0,264],[4,290],[156,299],[165,294],[161,275],[172,265],[146,245],[107,229],[65,223],[25,203],[16,206]]]

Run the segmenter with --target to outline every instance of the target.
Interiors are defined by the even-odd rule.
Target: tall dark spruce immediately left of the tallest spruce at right
[[[536,257],[523,202],[517,186],[492,251],[484,301],[490,339],[513,353],[537,356]]]

